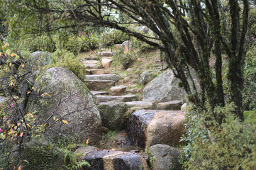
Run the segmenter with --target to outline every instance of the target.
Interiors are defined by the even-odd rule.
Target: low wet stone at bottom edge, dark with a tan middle
[[[135,153],[113,151],[113,150],[94,150],[89,152],[84,160],[91,164],[84,167],[86,170],[149,170],[148,163],[143,157]]]

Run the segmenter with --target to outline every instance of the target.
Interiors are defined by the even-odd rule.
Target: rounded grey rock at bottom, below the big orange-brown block
[[[153,170],[182,169],[182,164],[179,164],[179,150],[158,144],[151,146],[148,151]]]

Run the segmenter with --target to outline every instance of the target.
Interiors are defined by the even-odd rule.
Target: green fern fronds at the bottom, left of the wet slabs
[[[69,170],[78,170],[78,169],[82,169],[82,167],[84,166],[91,166],[88,162],[77,161],[76,155],[69,150],[62,149],[62,152],[65,153],[64,166]]]

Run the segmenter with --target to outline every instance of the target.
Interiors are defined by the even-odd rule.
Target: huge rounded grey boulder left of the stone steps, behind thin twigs
[[[45,125],[45,137],[90,143],[101,139],[101,116],[87,86],[69,70],[55,67],[35,80],[26,113],[33,113]],[[66,122],[67,121],[67,122]]]

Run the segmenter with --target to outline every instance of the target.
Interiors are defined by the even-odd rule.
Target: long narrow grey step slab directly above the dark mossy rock
[[[102,102],[108,102],[108,101],[138,101],[139,98],[133,94],[128,94],[124,96],[95,96],[96,102],[97,103],[102,103]]]

